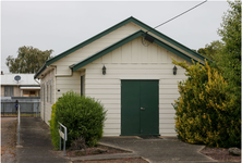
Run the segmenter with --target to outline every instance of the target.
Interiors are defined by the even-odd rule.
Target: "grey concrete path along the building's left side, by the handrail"
[[[17,163],[69,163],[69,158],[53,151],[49,127],[36,117],[21,118],[22,147],[16,149]]]

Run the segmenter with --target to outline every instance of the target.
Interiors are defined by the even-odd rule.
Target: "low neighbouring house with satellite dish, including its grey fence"
[[[40,85],[34,75],[1,72],[1,116],[16,115],[16,100],[20,102],[21,114],[39,114]]]

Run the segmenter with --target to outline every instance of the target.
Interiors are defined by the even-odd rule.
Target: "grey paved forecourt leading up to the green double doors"
[[[142,139],[140,137],[104,137],[102,145],[133,151],[152,163],[217,162],[199,153],[204,146],[189,145],[177,137]]]

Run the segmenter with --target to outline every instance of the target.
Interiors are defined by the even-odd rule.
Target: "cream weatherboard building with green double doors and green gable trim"
[[[148,32],[148,33],[146,33]],[[191,40],[191,41],[195,41]],[[129,17],[46,61],[41,79],[41,117],[73,90],[98,99],[107,110],[104,136],[174,136],[178,82],[185,71],[173,59],[204,64],[205,58],[143,22]]]

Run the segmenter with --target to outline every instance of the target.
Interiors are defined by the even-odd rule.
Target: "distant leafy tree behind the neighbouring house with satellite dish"
[[[7,58],[7,66],[11,73],[36,73],[49,59],[53,50],[41,51],[33,47],[20,47],[17,58]]]

